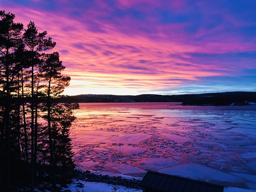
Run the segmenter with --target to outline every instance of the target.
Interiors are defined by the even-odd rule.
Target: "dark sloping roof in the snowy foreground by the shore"
[[[224,186],[154,171],[146,173],[140,186],[154,192],[223,192],[224,190]]]

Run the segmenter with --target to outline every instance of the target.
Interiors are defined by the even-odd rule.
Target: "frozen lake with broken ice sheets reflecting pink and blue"
[[[81,103],[70,129],[76,167],[256,190],[256,106],[171,104]]]

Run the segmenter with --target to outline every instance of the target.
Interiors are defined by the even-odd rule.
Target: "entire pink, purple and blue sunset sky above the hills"
[[[256,0],[1,0],[56,42],[64,94],[256,91]]]

